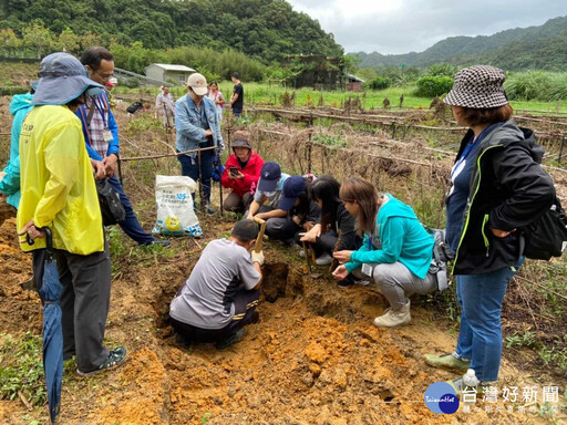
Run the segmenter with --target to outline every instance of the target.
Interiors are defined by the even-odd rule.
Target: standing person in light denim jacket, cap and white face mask
[[[215,214],[210,206],[210,176],[213,159],[225,145],[220,134],[220,123],[213,101],[206,97],[207,80],[202,74],[190,74],[187,80],[188,93],[175,102],[175,128],[177,152],[215,147],[177,156],[182,164],[182,175],[200,180],[200,207],[208,214]],[[195,200],[195,198],[194,198]]]

